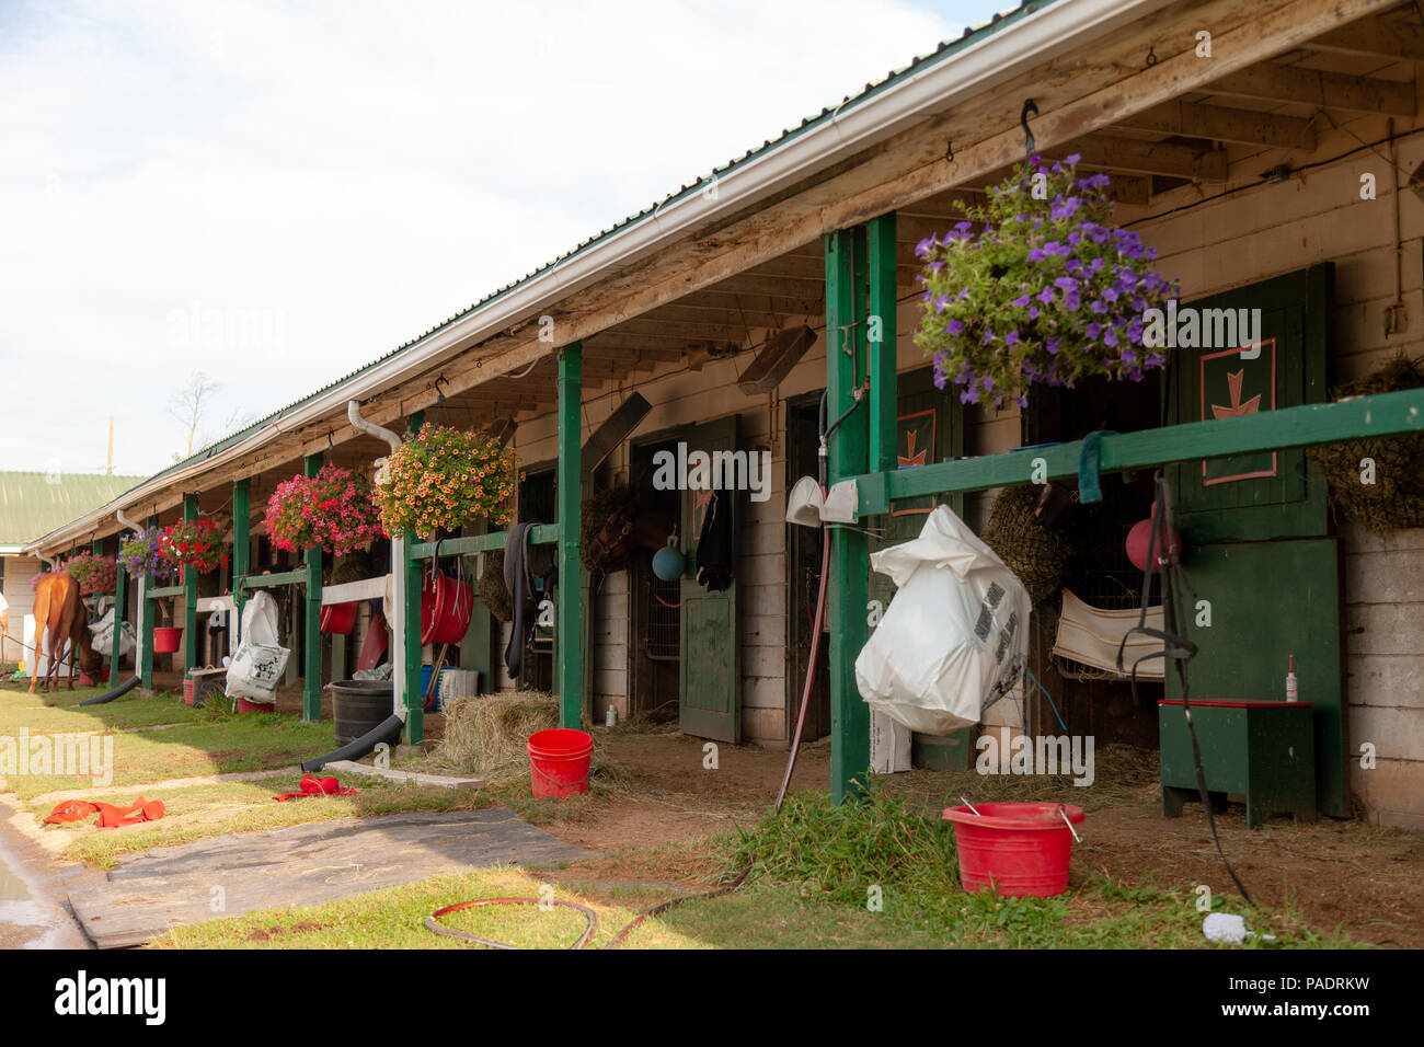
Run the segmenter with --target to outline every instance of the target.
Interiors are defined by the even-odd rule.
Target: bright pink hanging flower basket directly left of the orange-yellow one
[[[384,537],[372,496],[365,476],[326,463],[316,476],[293,476],[278,484],[268,500],[268,536],[289,553],[320,546],[346,556]]]

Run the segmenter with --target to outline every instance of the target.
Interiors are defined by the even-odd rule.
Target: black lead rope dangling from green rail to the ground
[[[1206,811],[1206,823],[1212,829],[1212,842],[1216,845],[1216,853],[1220,855],[1222,865],[1226,866],[1226,872],[1230,873],[1232,882],[1236,889],[1246,899],[1247,905],[1256,905],[1252,900],[1250,892],[1246,890],[1246,885],[1242,883],[1240,876],[1232,868],[1230,860],[1226,858],[1226,852],[1222,849],[1222,838],[1216,832],[1216,815],[1212,811],[1212,798],[1206,792],[1206,771],[1202,768],[1202,746],[1196,741],[1196,725],[1192,724],[1192,702],[1190,702],[1190,685],[1188,682],[1188,662],[1196,657],[1196,644],[1186,638],[1185,615],[1182,614],[1182,593],[1183,590],[1196,595],[1192,588],[1192,583],[1186,578],[1186,571],[1182,570],[1180,550],[1172,547],[1172,489],[1161,472],[1156,474],[1156,511],[1152,514],[1152,528],[1148,537],[1148,556],[1146,566],[1142,571],[1142,611],[1138,617],[1138,624],[1128,630],[1122,637],[1122,642],[1118,644],[1118,672],[1122,672],[1122,652],[1126,648],[1128,637],[1134,632],[1141,632],[1148,637],[1153,637],[1162,641],[1162,650],[1153,651],[1152,654],[1145,654],[1132,662],[1132,701],[1141,705],[1138,698],[1138,665],[1151,658],[1171,660],[1176,668],[1178,684],[1182,688],[1182,715],[1186,718],[1186,732],[1192,738],[1192,762],[1196,769],[1196,791],[1202,798],[1202,808]],[[1158,551],[1162,556],[1158,557]],[[1153,566],[1161,558],[1162,563],[1162,628],[1155,630],[1148,627],[1148,605],[1152,601],[1152,574]]]

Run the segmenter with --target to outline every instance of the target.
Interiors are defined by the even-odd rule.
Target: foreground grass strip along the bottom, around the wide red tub
[[[639,865],[642,850],[611,862]],[[965,893],[958,885],[948,825],[931,809],[871,786],[864,803],[837,808],[829,796],[799,796],[779,816],[735,835],[703,840],[685,855],[719,856],[726,882],[748,859],[752,876],[739,889],[689,899],[642,923],[627,940],[635,949],[1206,949],[1205,913],[1196,896],[1151,883],[1124,885],[1098,875],[1075,876],[1049,899]],[[649,862],[654,866],[661,859]],[[582,873],[580,873],[582,875]],[[460,900],[538,896],[591,906],[600,929],[591,947],[612,940],[632,917],[674,896],[668,887],[611,886],[571,870],[481,869],[443,876],[342,902],[249,913],[174,930],[155,947],[228,949],[474,949],[423,927],[434,909]],[[877,887],[879,890],[871,890]],[[1222,897],[1218,912],[1246,915],[1246,947],[1349,947],[1341,933],[1320,933],[1293,910],[1246,912]],[[584,917],[555,907],[496,906],[451,913],[446,926],[523,949],[562,949],[578,939]]]

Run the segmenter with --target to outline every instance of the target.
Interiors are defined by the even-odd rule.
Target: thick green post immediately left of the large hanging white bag
[[[870,358],[864,312],[864,228],[826,236],[827,417],[840,417],[864,380]],[[830,483],[866,469],[867,410],[840,423],[830,437]],[[893,444],[891,444],[893,447]],[[830,788],[836,803],[857,792],[870,766],[870,708],[856,687],[856,655],[866,645],[870,547],[860,531],[832,531],[830,591]]]

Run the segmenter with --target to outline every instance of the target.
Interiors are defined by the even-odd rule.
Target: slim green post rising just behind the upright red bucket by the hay
[[[578,553],[580,500],[582,497],[582,360],[581,342],[565,345],[558,356],[558,608],[554,628],[554,668],[558,689],[558,724],[577,728],[584,709],[584,615],[580,605],[582,560]]]

